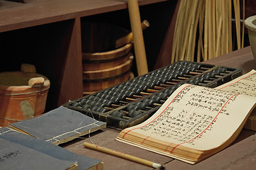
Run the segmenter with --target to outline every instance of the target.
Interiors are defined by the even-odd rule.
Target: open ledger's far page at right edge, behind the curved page
[[[215,87],[215,89],[256,96],[256,71],[252,69],[247,74],[243,74],[237,79],[233,79],[233,81]]]

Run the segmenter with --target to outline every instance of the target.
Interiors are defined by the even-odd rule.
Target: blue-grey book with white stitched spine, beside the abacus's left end
[[[106,123],[60,106],[37,118],[9,124],[11,130],[59,145],[106,127]]]

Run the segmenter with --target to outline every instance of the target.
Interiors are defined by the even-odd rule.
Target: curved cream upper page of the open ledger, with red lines
[[[238,130],[255,103],[252,96],[183,84],[151,118],[127,128],[119,138],[125,140],[127,134],[137,132],[146,135],[138,145],[154,138],[169,142],[170,147],[175,144],[198,150],[213,149]]]

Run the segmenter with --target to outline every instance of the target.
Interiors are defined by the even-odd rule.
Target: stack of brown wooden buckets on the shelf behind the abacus
[[[84,94],[127,81],[132,67],[132,43],[116,48],[115,41],[128,31],[107,23],[82,24]]]

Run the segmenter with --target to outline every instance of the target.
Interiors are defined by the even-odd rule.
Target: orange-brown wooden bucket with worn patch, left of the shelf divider
[[[1,72],[0,126],[41,115],[49,88],[50,81],[36,72]]]

